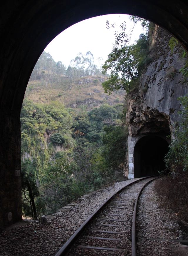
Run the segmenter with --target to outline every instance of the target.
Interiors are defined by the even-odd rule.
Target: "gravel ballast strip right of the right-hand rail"
[[[151,182],[142,192],[137,211],[137,255],[138,256],[185,256],[188,246],[172,241],[155,241],[150,239],[187,239],[182,237],[177,221],[172,220],[175,213],[168,208],[159,207]],[[178,248],[178,250],[176,250]],[[186,254],[184,254],[186,253]]]

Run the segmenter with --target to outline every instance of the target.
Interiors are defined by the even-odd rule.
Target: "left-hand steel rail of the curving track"
[[[120,193],[123,189],[125,189],[126,187],[129,187],[130,185],[139,182],[140,180],[143,179],[148,179],[150,177],[153,176],[147,176],[147,177],[142,177],[140,179],[137,179],[135,181],[130,182],[129,184],[125,185],[124,187],[122,187],[121,189],[118,189],[117,192],[115,192],[111,197],[109,197],[107,200],[105,200],[105,202],[103,202],[96,210],[95,212],[93,212],[87,220],[85,220],[85,222],[83,222],[83,224],[75,231],[75,233],[67,240],[67,242],[61,247],[61,249],[56,253],[55,256],[65,256],[68,254],[68,252],[70,251],[71,247],[73,246],[73,244],[75,243],[76,240],[78,240],[78,238],[80,237],[80,235],[83,233],[83,231],[85,230],[85,228],[88,226],[88,224],[95,218],[95,216],[103,209],[103,207],[105,207],[105,205],[107,205],[110,200],[113,199],[113,197],[115,195],[117,195],[118,193]],[[155,175],[156,177],[156,175]]]

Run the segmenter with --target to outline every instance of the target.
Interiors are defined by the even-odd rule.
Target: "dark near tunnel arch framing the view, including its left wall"
[[[117,13],[140,16],[158,24],[188,50],[185,0],[9,0],[1,4],[0,228],[21,220],[20,111],[39,56],[69,26],[91,17]]]

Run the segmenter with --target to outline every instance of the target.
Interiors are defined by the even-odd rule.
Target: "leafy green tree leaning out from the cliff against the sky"
[[[131,16],[131,19],[134,23],[142,21],[142,26],[147,27],[147,31],[145,34],[140,34],[140,38],[133,45],[129,45],[125,23],[120,25],[120,33],[115,32],[113,50],[102,67],[103,74],[110,72],[108,80],[102,83],[104,91],[109,95],[120,89],[129,92],[147,64],[149,22],[135,16]]]

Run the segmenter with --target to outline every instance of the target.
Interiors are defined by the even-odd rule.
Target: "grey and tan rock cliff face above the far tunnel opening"
[[[169,48],[170,35],[158,26],[150,40],[150,64],[139,86],[127,97],[129,135],[148,133],[173,134],[179,122],[181,105],[178,97],[188,94],[187,81],[179,69],[184,65],[183,49]]]

